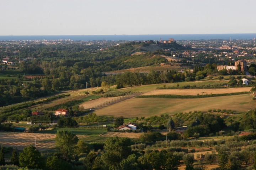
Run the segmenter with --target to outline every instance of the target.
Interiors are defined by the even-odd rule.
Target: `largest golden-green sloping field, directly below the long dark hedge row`
[[[230,109],[248,111],[255,109],[251,94],[220,96],[194,99],[172,98],[130,98],[95,111],[97,115],[114,115],[126,118],[150,117],[190,111],[208,111],[208,109]]]

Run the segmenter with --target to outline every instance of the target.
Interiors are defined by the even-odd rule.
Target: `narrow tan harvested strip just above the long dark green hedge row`
[[[250,91],[251,87],[223,88],[223,89],[158,89],[143,95],[206,95],[206,94],[225,94]]]

